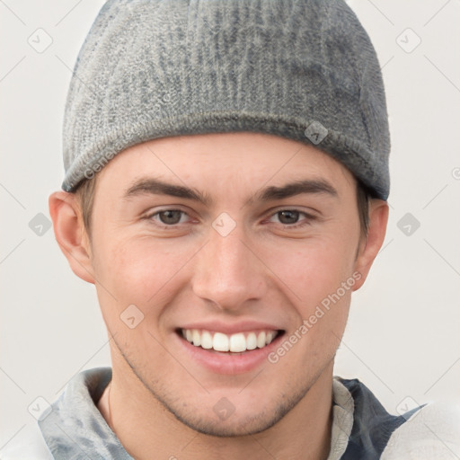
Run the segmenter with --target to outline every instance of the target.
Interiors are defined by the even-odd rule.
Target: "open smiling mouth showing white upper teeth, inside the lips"
[[[195,347],[232,354],[263,349],[284,331],[263,330],[225,334],[199,329],[178,329],[177,333]]]

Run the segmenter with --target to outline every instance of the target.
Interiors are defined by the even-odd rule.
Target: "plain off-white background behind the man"
[[[36,422],[37,397],[52,402],[75,373],[110,365],[93,285],[47,227],[71,69],[102,3],[0,0],[0,449]],[[460,2],[349,4],[383,66],[392,189],[385,243],[353,296],[335,373],[358,377],[393,413],[460,402]]]

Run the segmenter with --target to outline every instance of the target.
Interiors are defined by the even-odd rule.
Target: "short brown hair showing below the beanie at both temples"
[[[96,188],[96,179],[97,174],[93,179],[86,179],[83,181],[77,190],[75,190],[75,195],[79,199],[80,207],[82,210],[84,228],[88,237],[90,237],[91,230],[91,217],[93,215],[93,199],[94,199],[94,190]],[[361,238],[367,237],[367,230],[369,228],[369,199],[371,194],[367,187],[361,182],[357,181],[357,204],[358,204],[358,214],[359,214],[359,223],[361,225]]]

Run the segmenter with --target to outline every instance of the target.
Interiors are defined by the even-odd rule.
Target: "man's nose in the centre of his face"
[[[249,301],[261,300],[268,288],[257,248],[240,226],[226,236],[211,227],[194,269],[194,294],[221,310],[238,311]]]

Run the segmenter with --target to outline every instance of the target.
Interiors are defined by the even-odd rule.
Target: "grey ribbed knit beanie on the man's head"
[[[158,137],[252,131],[314,145],[389,193],[380,66],[342,0],[110,0],[75,64],[62,188]]]

